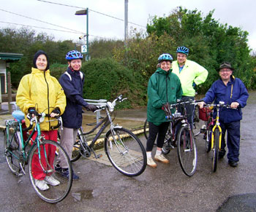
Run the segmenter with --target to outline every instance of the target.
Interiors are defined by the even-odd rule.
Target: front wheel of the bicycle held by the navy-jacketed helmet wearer
[[[139,176],[146,168],[146,150],[127,129],[114,128],[106,133],[105,152],[113,167],[125,176]]]

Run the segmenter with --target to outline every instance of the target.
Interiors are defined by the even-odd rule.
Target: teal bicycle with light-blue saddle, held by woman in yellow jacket
[[[22,111],[13,111],[12,116],[14,119],[6,120],[6,128],[4,130],[4,155],[10,170],[16,176],[23,176],[26,174],[25,165],[29,164],[30,181],[37,195],[48,203],[58,203],[61,200],[64,200],[72,187],[72,165],[66,151],[61,145],[59,145],[56,141],[45,140],[44,136],[42,136],[40,122],[43,122],[45,117],[48,117],[49,115],[41,113],[36,114],[32,118],[28,117],[30,119],[30,125],[27,128],[22,127],[25,119]],[[52,129],[55,129],[61,125],[61,117],[57,117],[57,120],[58,125],[51,127]],[[51,120],[48,122],[50,121]],[[23,138],[23,132],[31,130],[32,127],[33,130],[25,141]],[[32,137],[36,132],[37,136],[33,141]],[[50,151],[53,155],[50,154]],[[55,170],[56,158],[58,154],[63,154],[67,162],[70,173],[68,178],[62,177]],[[53,162],[49,161],[49,155],[55,156]],[[38,166],[34,163],[35,160],[39,160]],[[45,173],[47,176],[53,176],[53,178],[58,180],[60,184],[55,187],[48,184],[49,189],[44,191],[38,189],[34,178],[34,172],[36,171],[42,171],[42,173]]]

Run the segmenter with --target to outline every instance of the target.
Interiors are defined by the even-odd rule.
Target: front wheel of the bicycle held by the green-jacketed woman
[[[192,176],[197,167],[197,149],[192,130],[189,131],[187,126],[178,131],[177,151],[181,169],[187,176]]]

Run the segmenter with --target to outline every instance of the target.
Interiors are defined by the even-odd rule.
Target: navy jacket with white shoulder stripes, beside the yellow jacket
[[[59,78],[67,98],[67,106],[61,117],[64,127],[78,129],[83,121],[82,106],[88,104],[83,100],[84,77],[80,76],[82,72],[72,71],[70,68],[67,68],[67,73],[69,75],[62,74]]]

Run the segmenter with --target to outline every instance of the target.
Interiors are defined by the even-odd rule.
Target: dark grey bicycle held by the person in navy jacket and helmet
[[[139,176],[143,173],[146,169],[146,150],[143,144],[140,142],[140,139],[129,130],[114,125],[113,119],[111,118],[116,102],[122,102],[126,99],[127,98],[122,98],[122,95],[119,95],[112,103],[108,101],[102,104],[102,106],[98,106],[99,111],[105,110],[106,117],[87,133],[83,133],[82,127],[78,129],[78,138],[73,146],[71,162],[75,162],[81,156],[89,158],[91,157],[91,153],[94,154],[95,158],[101,157],[102,155],[97,155],[94,152],[94,145],[99,136],[103,133],[103,130],[110,125],[110,129],[105,133],[104,138],[105,154],[107,154],[108,160],[110,160],[116,170],[125,176]],[[98,133],[89,144],[86,136],[93,133],[100,125],[102,125],[102,127],[100,127]]]

